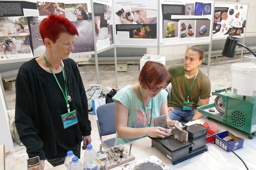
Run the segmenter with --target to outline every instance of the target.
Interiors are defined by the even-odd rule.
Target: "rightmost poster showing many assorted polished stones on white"
[[[215,3],[213,39],[227,38],[227,36],[243,37],[247,10],[247,4]]]

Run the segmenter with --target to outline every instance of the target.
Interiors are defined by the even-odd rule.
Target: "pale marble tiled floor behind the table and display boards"
[[[227,86],[228,82],[231,81],[231,70],[230,66],[234,62],[240,62],[240,60],[232,60],[225,62],[218,62],[211,64],[210,67],[210,80],[211,80],[211,91],[215,88]],[[249,61],[254,62],[254,61]],[[112,67],[112,68],[111,68]],[[166,62],[166,68],[169,68],[170,64]],[[109,93],[112,88],[116,88],[116,78],[114,75],[113,66],[100,67],[99,79],[100,85],[104,89],[104,93]],[[207,65],[201,65],[200,69],[207,74]],[[107,71],[108,70],[108,71]],[[84,82],[85,89],[89,84],[96,84],[95,67],[80,67],[81,77]],[[132,82],[138,82],[139,68],[138,65],[130,65],[127,72],[118,72],[118,88],[131,84]],[[15,109],[15,89],[5,90],[7,103],[9,110]],[[210,103],[214,102],[216,96],[211,96]],[[92,112],[90,112],[92,113]],[[92,122],[92,145],[95,150],[99,150],[99,134],[97,130],[96,120],[97,116],[90,114],[89,119]],[[113,137],[110,136],[110,137]],[[81,151],[83,156],[84,151]],[[18,146],[14,143],[14,149],[10,149],[5,153],[5,165],[7,170],[26,170],[26,148],[24,146]],[[45,170],[51,168],[49,163],[45,164]]]

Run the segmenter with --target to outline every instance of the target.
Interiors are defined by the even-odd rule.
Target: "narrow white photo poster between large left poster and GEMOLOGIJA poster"
[[[112,0],[93,0],[97,50],[114,46],[112,4]]]

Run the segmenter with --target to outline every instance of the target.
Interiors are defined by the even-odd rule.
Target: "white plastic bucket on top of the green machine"
[[[231,90],[234,94],[256,96],[256,65],[234,63],[231,65]]]

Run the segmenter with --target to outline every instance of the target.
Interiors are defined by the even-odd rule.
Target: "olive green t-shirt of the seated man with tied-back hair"
[[[168,69],[171,74],[169,83],[171,82],[171,98],[168,101],[168,107],[183,107],[183,101],[187,101],[187,89],[184,77],[184,66],[173,65]],[[187,79],[187,88],[190,90],[194,77]],[[199,106],[199,98],[206,99],[211,95],[210,79],[200,70],[189,94],[189,102],[193,102],[193,109]]]

